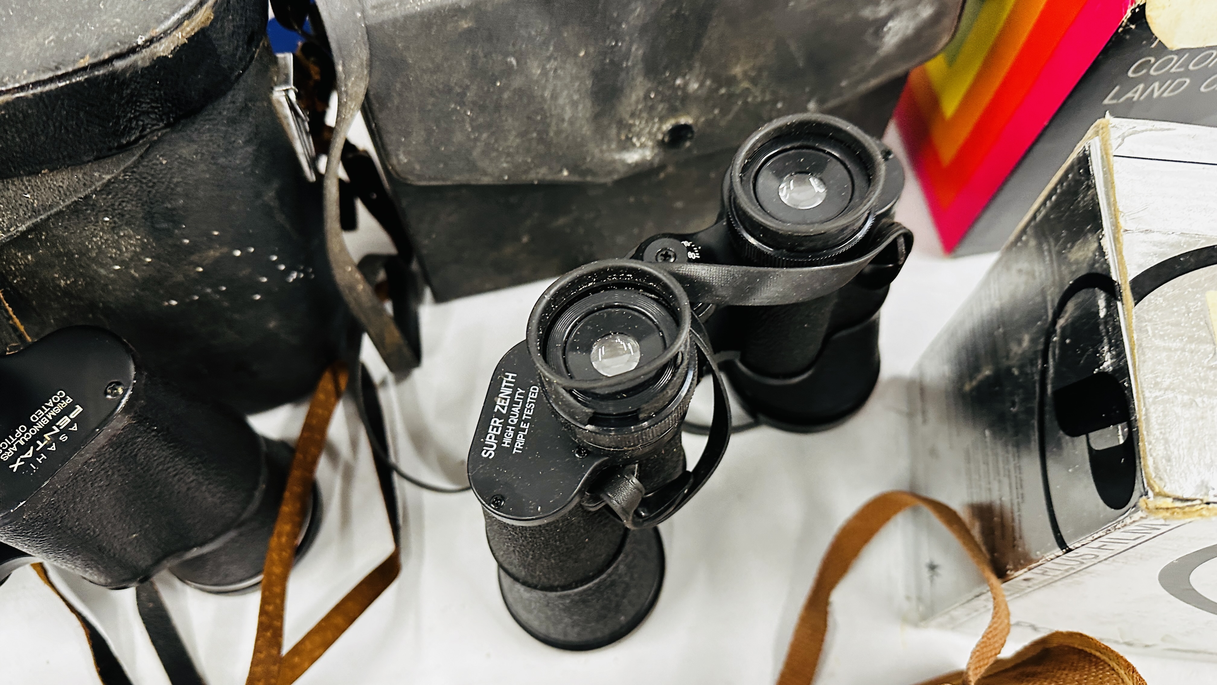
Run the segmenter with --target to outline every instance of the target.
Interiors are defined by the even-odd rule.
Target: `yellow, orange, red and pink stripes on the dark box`
[[[909,74],[896,123],[950,251],[1135,0],[969,0]]]

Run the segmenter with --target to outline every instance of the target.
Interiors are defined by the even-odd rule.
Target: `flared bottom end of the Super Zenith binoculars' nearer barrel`
[[[663,568],[660,531],[630,530],[617,558],[587,585],[537,590],[500,567],[499,591],[511,618],[533,637],[560,650],[595,650],[643,623],[660,597]]]

